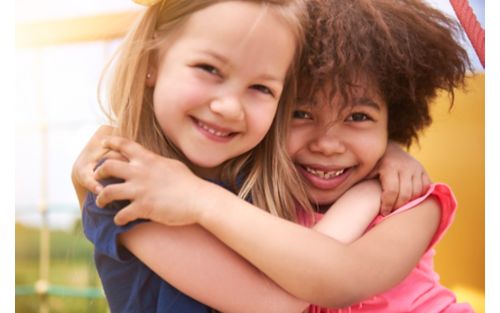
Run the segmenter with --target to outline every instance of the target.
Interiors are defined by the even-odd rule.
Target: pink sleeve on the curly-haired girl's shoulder
[[[436,233],[434,234],[434,237],[432,238],[431,242],[429,243],[429,249],[432,248],[441,238],[443,237],[444,233],[448,230],[450,227],[451,223],[453,222],[453,219],[455,218],[455,212],[457,208],[457,200],[455,199],[455,195],[451,191],[451,188],[443,183],[435,183],[432,184],[429,187],[429,190],[423,195],[420,196],[414,200],[411,200],[410,202],[406,203],[402,207],[396,209],[394,212],[387,216],[378,216],[374,223],[373,226],[376,224],[379,224],[386,218],[393,216],[395,214],[399,214],[401,212],[405,212],[420,203],[422,203],[424,200],[429,198],[430,196],[434,196],[436,200],[438,200],[441,208],[441,221],[439,223],[439,227],[436,230]]]

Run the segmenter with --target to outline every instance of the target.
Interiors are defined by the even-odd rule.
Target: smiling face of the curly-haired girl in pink
[[[318,96],[315,105],[298,106],[287,142],[309,200],[319,205],[335,202],[364,179],[388,140],[387,106],[375,92],[355,94],[342,110],[336,98]]]

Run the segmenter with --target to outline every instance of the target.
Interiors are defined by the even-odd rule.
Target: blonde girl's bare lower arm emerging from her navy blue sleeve
[[[302,312],[308,306],[199,226],[145,223],[122,241],[160,277],[220,311]]]

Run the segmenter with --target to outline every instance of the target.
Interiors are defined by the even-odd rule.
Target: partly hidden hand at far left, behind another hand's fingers
[[[80,207],[82,207],[87,191],[98,193],[102,189],[101,184],[94,179],[94,168],[97,162],[108,152],[102,147],[101,141],[112,131],[113,127],[108,125],[99,127],[73,164],[71,180],[80,201]],[[111,155],[111,157],[113,156]]]

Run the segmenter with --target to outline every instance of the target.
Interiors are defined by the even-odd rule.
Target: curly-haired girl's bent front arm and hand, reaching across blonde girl
[[[97,177],[126,180],[106,187],[97,199],[100,205],[132,200],[115,216],[118,224],[139,217],[170,225],[199,223],[291,294],[324,306],[352,304],[401,281],[427,248],[439,221],[439,206],[429,199],[342,245],[258,210],[194,176],[184,164],[155,156],[136,143],[111,138],[107,145],[131,160],[106,161],[96,172]],[[148,177],[157,175],[163,188],[138,189],[144,184],[136,184],[135,177],[152,166],[155,171]],[[319,225],[328,229],[327,221]]]

